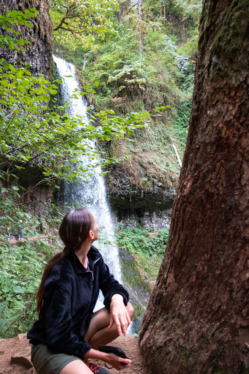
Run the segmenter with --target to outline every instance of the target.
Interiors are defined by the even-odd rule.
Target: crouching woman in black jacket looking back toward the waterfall
[[[134,310],[128,292],[92,245],[98,230],[96,218],[84,208],[69,211],[62,220],[59,234],[65,248],[45,267],[37,293],[39,318],[27,335],[38,374],[109,373],[88,358],[117,370],[131,364],[121,349],[105,346],[126,335]],[[93,313],[99,289],[105,307]]]

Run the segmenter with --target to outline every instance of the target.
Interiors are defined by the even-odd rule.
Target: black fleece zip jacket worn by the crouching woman
[[[82,359],[91,348],[84,336],[99,289],[103,292],[107,309],[110,309],[114,294],[122,295],[127,306],[128,292],[109,272],[99,251],[91,246],[87,257],[89,270],[84,268],[73,252],[52,268],[45,281],[39,318],[28,331],[30,343],[43,343],[52,352]]]

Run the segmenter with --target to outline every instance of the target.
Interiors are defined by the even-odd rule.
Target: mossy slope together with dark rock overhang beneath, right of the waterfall
[[[130,155],[130,160],[112,164],[111,173],[106,175],[109,202],[117,221],[122,220],[123,227],[169,227],[180,174],[172,138],[181,159],[184,141],[173,126],[168,128],[163,123],[152,123],[131,138],[133,141],[113,139],[105,147],[110,156]]]

